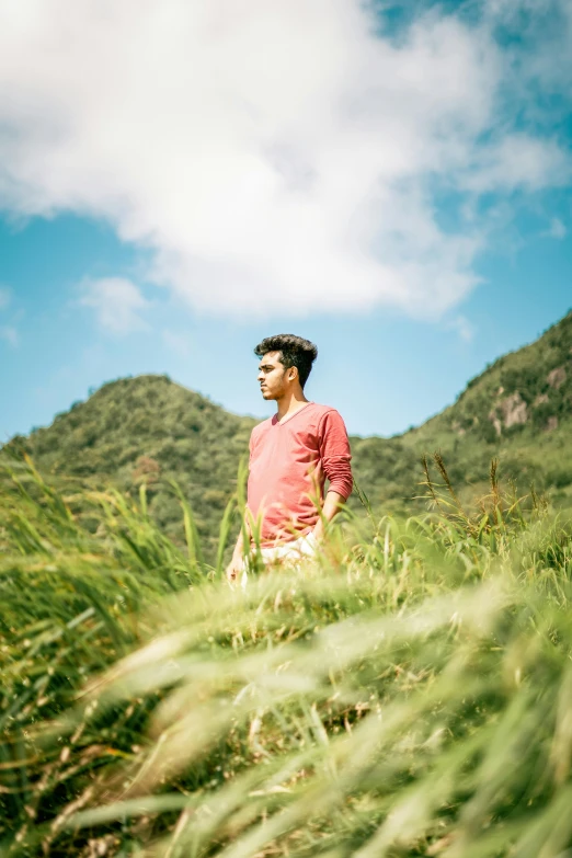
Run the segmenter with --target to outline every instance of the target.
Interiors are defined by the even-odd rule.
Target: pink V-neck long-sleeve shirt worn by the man
[[[263,546],[296,539],[319,518],[325,480],[352,492],[350,442],[338,411],[308,402],[294,414],[260,423],[250,438],[248,508]]]

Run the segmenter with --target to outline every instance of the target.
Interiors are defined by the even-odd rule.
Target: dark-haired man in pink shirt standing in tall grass
[[[338,411],[318,405],[304,388],[318,350],[294,334],[267,336],[255,348],[258,380],[276,414],[252,431],[244,551],[240,534],[227,577],[243,572],[244,553],[260,539],[265,562],[313,552],[330,522],[352,491],[347,432]],[[324,483],[329,480],[324,499]]]

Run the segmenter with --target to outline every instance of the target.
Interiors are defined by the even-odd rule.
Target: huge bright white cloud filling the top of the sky
[[[477,283],[487,231],[446,232],[434,185],[510,194],[570,175],[557,141],[502,113],[510,64],[487,15],[433,11],[392,42],[361,0],[0,13],[0,199],[107,218],[196,308],[437,317]],[[125,324],[93,306],[111,330],[140,323],[140,305]]]

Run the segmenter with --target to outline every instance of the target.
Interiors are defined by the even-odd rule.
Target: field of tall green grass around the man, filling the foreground
[[[117,492],[0,480],[1,856],[572,854],[572,526],[499,485],[222,581]],[[174,491],[174,489],[173,489]]]

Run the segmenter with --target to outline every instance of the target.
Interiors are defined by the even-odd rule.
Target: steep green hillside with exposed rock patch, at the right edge
[[[572,312],[499,358],[402,442],[417,454],[441,449],[454,481],[473,492],[483,490],[495,456],[505,476],[524,487],[534,481],[572,506]]]

